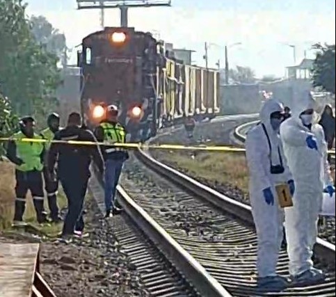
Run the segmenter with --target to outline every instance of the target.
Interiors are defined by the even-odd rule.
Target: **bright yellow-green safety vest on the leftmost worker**
[[[14,134],[13,138],[22,139],[27,138],[22,132]],[[34,134],[33,138],[42,139],[42,136]],[[45,148],[43,143],[28,143],[23,141],[15,141],[16,144],[16,155],[19,159],[22,159],[24,162],[20,166],[16,166],[16,169],[19,171],[33,171],[38,170],[42,171],[43,164],[41,161],[41,154]]]

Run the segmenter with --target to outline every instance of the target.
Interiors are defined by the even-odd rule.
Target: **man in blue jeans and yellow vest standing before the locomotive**
[[[125,143],[126,130],[118,122],[118,107],[110,105],[106,110],[106,120],[103,120],[95,129],[97,141],[106,143]],[[115,190],[118,185],[123,163],[129,155],[123,147],[104,145],[102,154],[105,161],[104,173],[104,199],[106,207],[106,218],[118,214],[121,209],[115,205]]]

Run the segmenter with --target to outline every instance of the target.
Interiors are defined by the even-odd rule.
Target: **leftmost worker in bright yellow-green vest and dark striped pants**
[[[12,136],[13,139],[9,141],[7,149],[8,159],[16,166],[14,223],[19,225],[23,221],[28,190],[33,196],[38,223],[46,223],[47,218],[43,212],[45,193],[42,178],[45,145],[42,142],[20,141],[22,138],[42,139],[42,136],[34,131],[35,120],[32,117],[22,118],[19,125],[20,131]]]

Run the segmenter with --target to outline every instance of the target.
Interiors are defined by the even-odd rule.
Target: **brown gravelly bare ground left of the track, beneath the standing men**
[[[68,245],[58,243],[54,236],[61,231],[62,224],[39,226],[33,223],[35,212],[31,200],[26,221],[34,234],[11,230],[14,168],[10,163],[1,162],[0,170],[0,226],[6,227],[0,231],[0,243],[40,242],[41,273],[57,297],[147,296],[134,266],[120,252],[113,227],[101,220],[102,214],[93,199],[88,197],[86,205],[86,230],[90,234],[86,239],[76,239]],[[117,216],[113,224],[116,227],[125,222]]]

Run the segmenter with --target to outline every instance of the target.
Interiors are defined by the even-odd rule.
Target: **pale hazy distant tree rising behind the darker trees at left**
[[[59,33],[58,29],[55,29],[42,15],[38,17],[33,15],[30,19],[30,25],[31,33],[38,43],[44,45],[47,51],[56,54],[58,58],[63,57],[67,49],[64,34]]]

